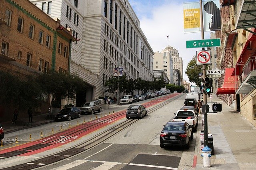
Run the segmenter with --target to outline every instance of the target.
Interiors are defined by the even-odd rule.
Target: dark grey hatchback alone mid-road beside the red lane
[[[146,115],[147,110],[143,105],[130,105],[126,111],[126,119],[130,119],[132,117],[142,119],[142,117]]]

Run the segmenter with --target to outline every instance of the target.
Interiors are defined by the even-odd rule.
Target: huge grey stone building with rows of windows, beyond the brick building
[[[70,73],[87,83],[86,100],[113,96],[104,86],[114,69],[127,79],[153,81],[153,55],[128,0],[30,0],[79,39],[72,42]],[[51,13],[48,12],[49,2]]]

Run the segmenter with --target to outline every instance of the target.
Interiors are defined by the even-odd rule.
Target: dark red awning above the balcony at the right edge
[[[252,28],[251,31],[256,32],[256,29]],[[248,48],[248,45],[250,45],[251,41],[254,41],[254,40],[256,40],[256,35],[250,33],[248,36],[248,40],[246,41],[246,44],[244,45],[242,53],[236,62],[236,66],[235,66],[235,69],[234,69],[232,75],[241,75],[246,61],[249,59],[249,57],[254,56],[255,50],[252,48]]]

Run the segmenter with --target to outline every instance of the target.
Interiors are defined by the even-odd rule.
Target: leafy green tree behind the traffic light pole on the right
[[[199,87],[201,87],[201,79],[198,78],[199,74],[202,73],[202,65],[196,65],[196,56],[192,58],[192,60],[188,63],[186,68],[186,75],[190,82],[196,83]],[[205,69],[208,69],[208,65],[206,65]]]

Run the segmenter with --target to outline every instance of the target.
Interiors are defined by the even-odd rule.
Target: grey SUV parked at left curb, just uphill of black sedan
[[[81,107],[82,114],[90,113],[94,114],[95,111],[101,112],[102,105],[98,100],[95,101],[87,101],[85,102],[84,106]]]

